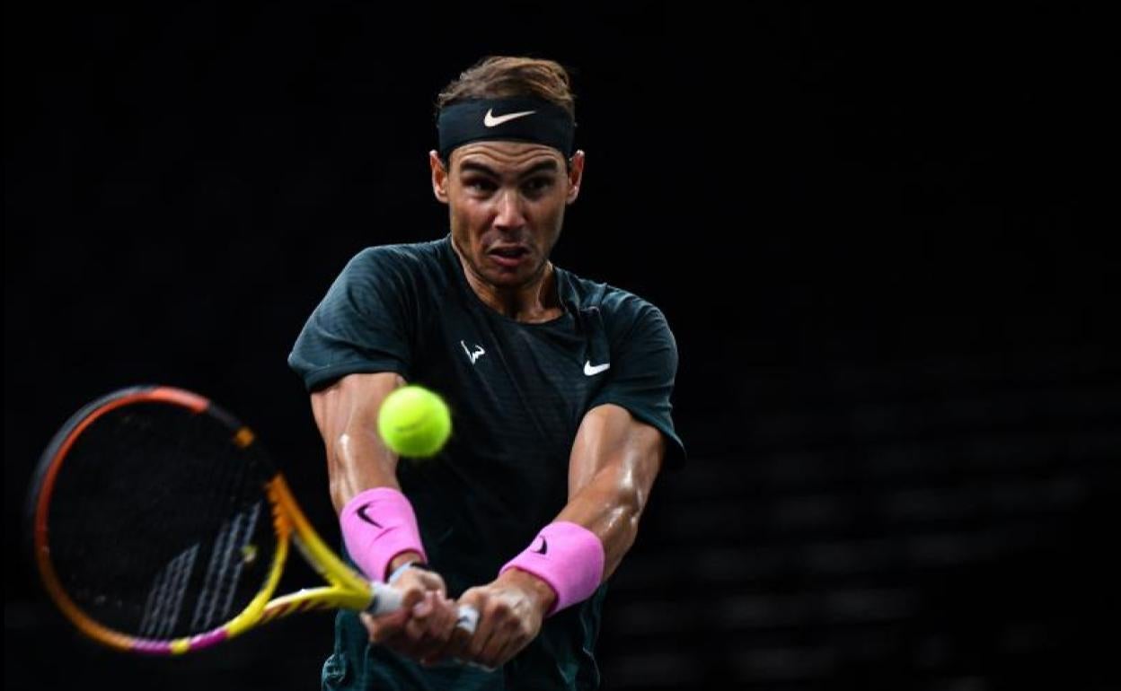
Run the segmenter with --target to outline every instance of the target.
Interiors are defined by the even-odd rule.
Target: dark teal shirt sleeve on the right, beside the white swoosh
[[[639,309],[632,327],[611,348],[608,381],[591,408],[614,403],[666,438],[667,466],[685,460],[685,445],[674,429],[669,401],[677,376],[677,342],[661,311],[649,304]]]

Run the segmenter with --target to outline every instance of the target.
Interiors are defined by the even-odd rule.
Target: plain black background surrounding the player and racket
[[[615,579],[605,688],[1108,688],[1104,19],[908,7],[6,9],[6,687],[316,688],[328,615],[174,661],[78,638],[28,479],[89,400],[178,385],[331,536],[287,353],[353,253],[446,232],[436,92],[529,54],[574,68],[587,151],[554,260],[661,307],[682,358],[692,458]]]

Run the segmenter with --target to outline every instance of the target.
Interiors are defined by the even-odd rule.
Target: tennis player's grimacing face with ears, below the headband
[[[475,277],[499,289],[540,277],[565,206],[580,192],[583,151],[571,170],[556,149],[528,142],[464,144],[452,152],[451,171],[435,152],[429,159],[436,198],[450,207],[452,240]]]

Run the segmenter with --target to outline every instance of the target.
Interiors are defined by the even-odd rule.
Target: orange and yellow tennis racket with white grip
[[[80,410],[39,461],[29,497],[43,583],[85,635],[175,655],[299,611],[401,606],[315,533],[253,432],[168,386]],[[295,543],[326,586],[274,592]],[[478,613],[460,610],[473,632]]]

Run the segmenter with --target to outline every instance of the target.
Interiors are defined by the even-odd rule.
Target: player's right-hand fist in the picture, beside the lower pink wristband
[[[537,637],[555,599],[548,583],[518,569],[510,569],[485,586],[471,588],[460,596],[458,603],[479,610],[479,626],[474,635],[455,629],[445,653],[497,669]]]

